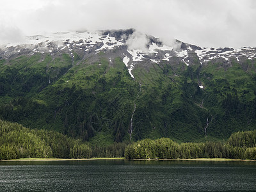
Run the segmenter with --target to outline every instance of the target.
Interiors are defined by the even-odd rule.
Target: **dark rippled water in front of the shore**
[[[0,191],[256,191],[256,162],[0,162]]]

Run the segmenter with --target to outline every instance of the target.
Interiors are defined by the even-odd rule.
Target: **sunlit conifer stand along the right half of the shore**
[[[125,148],[127,159],[196,159],[196,158],[226,158],[226,159],[256,159],[256,147],[248,147],[243,136],[252,135],[255,131],[237,132],[232,134],[227,143],[181,143],[170,138],[159,140],[141,140]],[[236,140],[238,139],[238,140]],[[255,141],[255,140],[254,140]]]

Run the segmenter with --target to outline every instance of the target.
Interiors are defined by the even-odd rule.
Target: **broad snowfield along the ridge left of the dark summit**
[[[53,33],[47,36],[36,35],[27,36],[22,45],[26,46],[28,49],[33,49],[33,52],[49,51],[52,49],[72,49],[79,47],[79,49],[86,48],[84,51],[90,51],[95,45],[102,44],[95,51],[102,51],[106,49],[113,49],[115,46],[124,45],[122,40],[116,40],[115,37],[109,35],[101,35],[100,32],[69,32],[69,33]],[[8,44],[8,47],[19,47],[19,44]],[[51,52],[49,51],[49,52]]]

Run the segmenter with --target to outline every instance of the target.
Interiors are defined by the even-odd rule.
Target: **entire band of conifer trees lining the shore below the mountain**
[[[0,159],[19,158],[127,159],[227,158],[256,160],[256,130],[235,132],[225,142],[177,143],[170,138],[95,146],[54,131],[35,130],[0,120]]]

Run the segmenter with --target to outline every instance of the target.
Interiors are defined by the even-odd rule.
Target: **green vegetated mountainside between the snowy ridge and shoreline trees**
[[[73,55],[1,60],[0,118],[106,144],[227,140],[255,129],[255,60],[200,65],[191,55],[187,66],[173,57],[171,64],[136,65],[134,81],[120,57]]]

